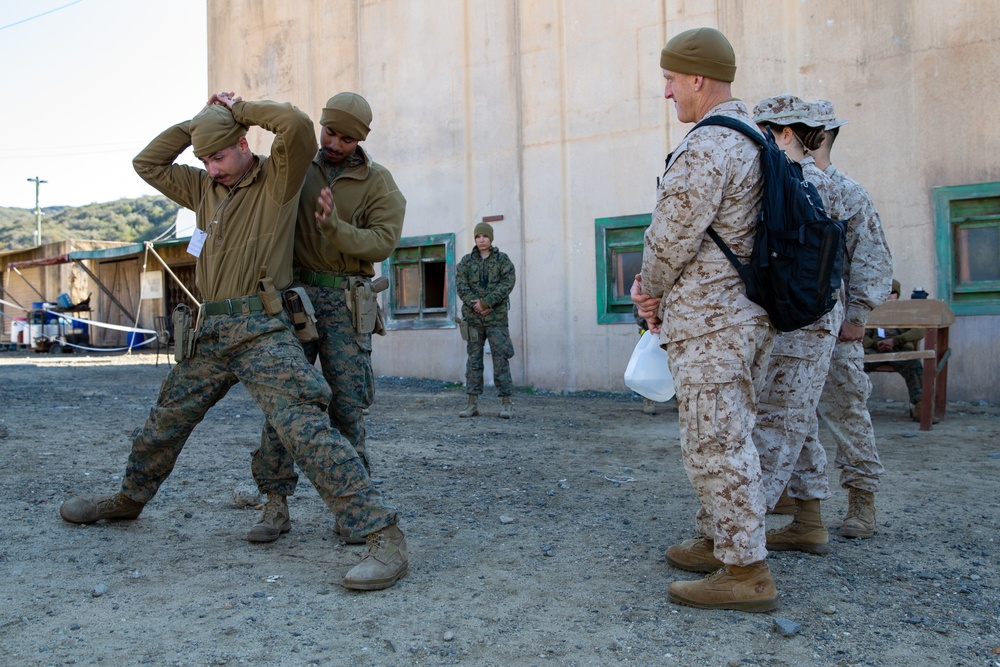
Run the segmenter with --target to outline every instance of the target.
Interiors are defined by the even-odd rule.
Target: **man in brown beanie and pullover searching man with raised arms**
[[[368,137],[371,121],[371,107],[357,93],[340,93],[327,101],[320,116],[320,150],[299,197],[294,257],[294,284],[309,296],[319,333],[318,340],[304,344],[306,358],[310,363],[319,358],[333,391],[330,422],[347,438],[369,473],[362,411],[375,398],[371,363],[375,321],[355,317],[356,306],[361,304],[349,306],[349,302],[357,302],[358,296],[372,299],[369,306],[375,305],[374,262],[384,260],[396,248],[406,210],[392,174],[360,145]],[[317,219],[321,208],[331,210],[327,219]],[[252,468],[267,503],[247,539],[273,542],[291,530],[286,497],[295,493],[298,475],[270,424],[264,427]],[[349,544],[365,542],[339,521],[334,532]]]

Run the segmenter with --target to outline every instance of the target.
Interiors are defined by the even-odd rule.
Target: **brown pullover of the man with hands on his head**
[[[217,183],[198,167],[174,164],[191,145],[189,121],[153,139],[132,161],[144,181],[197,215],[208,234],[195,270],[206,301],[256,294],[260,271],[282,290],[292,282],[292,246],[299,190],[316,151],[307,115],[290,104],[236,102],[233,117],[275,134],[271,155],[237,186]]]

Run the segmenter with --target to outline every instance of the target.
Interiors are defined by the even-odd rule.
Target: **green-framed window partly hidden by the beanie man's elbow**
[[[642,270],[643,235],[652,219],[641,213],[594,221],[598,324],[635,324],[629,290]]]

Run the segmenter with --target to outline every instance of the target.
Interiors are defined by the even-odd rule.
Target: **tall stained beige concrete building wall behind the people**
[[[597,324],[594,220],[648,212],[689,129],[658,64],[682,30],[727,34],[749,105],[794,92],[850,119],[834,160],[870,191],[906,290],[938,296],[932,188],[1000,180],[1000,94],[980,83],[1000,46],[991,0],[209,0],[208,19],[212,90],[314,118],[342,90],[371,102],[365,147],[407,197],[404,236],[453,232],[461,256],[476,222],[503,216],[519,385],[624,389],[636,330]],[[1000,401],[996,365],[979,363],[998,323],[959,318],[953,398]],[[464,378],[454,329],[390,332],[374,359],[380,374]]]

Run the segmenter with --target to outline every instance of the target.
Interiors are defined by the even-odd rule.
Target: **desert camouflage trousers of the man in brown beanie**
[[[752,435],[774,334],[759,321],[667,344],[684,469],[701,501],[695,527],[730,565],[767,556]]]

